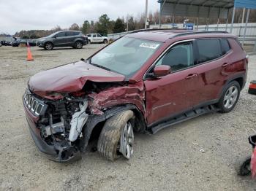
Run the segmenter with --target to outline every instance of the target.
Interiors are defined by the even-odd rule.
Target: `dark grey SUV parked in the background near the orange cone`
[[[80,31],[58,31],[43,38],[37,39],[37,46],[52,50],[53,47],[83,48],[87,44],[87,36]]]

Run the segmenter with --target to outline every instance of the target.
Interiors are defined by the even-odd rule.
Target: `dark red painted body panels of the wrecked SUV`
[[[143,79],[154,61],[174,42],[197,38],[235,38],[232,34],[174,35],[187,31],[144,31],[127,36],[163,42],[162,46],[146,61],[126,85],[110,87],[99,93],[91,93],[89,109],[93,114],[102,114],[103,109],[122,104],[134,104],[144,114],[147,125],[172,114],[192,109],[206,101],[219,98],[227,79],[237,74],[246,75],[246,53],[234,39],[229,39],[232,51],[216,61],[210,61],[189,69],[167,74],[157,79]],[[224,63],[228,66],[222,67]],[[193,75],[194,74],[194,75]],[[193,75],[190,78],[189,75]],[[42,71],[29,80],[29,88],[37,95],[59,99],[64,95],[54,93],[77,93],[86,82],[122,82],[125,77],[89,63],[79,61]]]

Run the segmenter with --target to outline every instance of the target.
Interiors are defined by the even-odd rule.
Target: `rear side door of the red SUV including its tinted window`
[[[223,39],[197,39],[197,74],[199,77],[198,97],[191,101],[192,106],[211,104],[217,101],[225,84],[223,70],[230,64],[230,47]],[[225,43],[225,44],[224,44]]]

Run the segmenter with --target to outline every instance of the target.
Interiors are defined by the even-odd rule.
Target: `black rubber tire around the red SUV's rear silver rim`
[[[232,106],[230,106],[230,108],[228,108],[228,107],[225,106],[225,95],[228,93],[228,90],[229,90],[231,87],[234,87],[235,89],[237,88],[237,91],[238,91],[238,92],[237,92],[236,100],[233,102]],[[230,83],[225,87],[225,90],[224,90],[223,93],[222,93],[222,97],[219,99],[219,103],[217,104],[217,107],[220,109],[219,112],[227,113],[227,112],[232,111],[232,109],[236,106],[236,103],[237,103],[237,101],[238,101],[238,99],[239,99],[240,91],[241,91],[241,87],[240,87],[240,85],[238,84],[238,82],[236,82],[236,81],[230,82]]]

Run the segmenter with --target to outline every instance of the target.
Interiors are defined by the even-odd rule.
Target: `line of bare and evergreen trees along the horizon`
[[[241,23],[241,15],[243,9],[236,9],[235,23]],[[232,12],[228,15],[228,22],[231,22]],[[189,23],[196,23],[196,17],[187,17]],[[159,23],[159,12],[150,12],[148,15],[149,24],[158,24]],[[174,23],[183,23],[184,17],[175,17]],[[217,23],[217,19],[209,19],[209,24]],[[137,29],[144,28],[145,14],[138,14],[136,17],[134,15],[127,15],[126,17],[118,17],[116,20],[110,20],[107,14],[103,14],[99,19],[94,22],[93,20],[84,20],[84,22],[79,26],[78,23],[73,23],[69,28],[61,28],[56,26],[51,30],[23,30],[16,32],[14,36],[21,37],[23,39],[37,39],[43,36],[48,36],[56,31],[61,30],[74,30],[82,31],[83,34],[89,33],[99,33],[104,36],[111,33],[121,33],[124,31],[133,31]],[[205,25],[207,18],[199,18],[198,24]],[[250,11],[249,22],[256,22],[256,10]],[[173,23],[173,16],[162,16],[161,23]],[[226,23],[226,19],[220,19],[219,23]],[[1,36],[1,34],[0,34]]]

